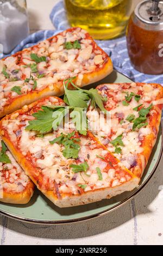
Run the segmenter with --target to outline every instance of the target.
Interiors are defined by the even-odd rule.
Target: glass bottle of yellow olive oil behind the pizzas
[[[95,39],[121,35],[130,15],[131,0],[65,0],[68,21]]]

